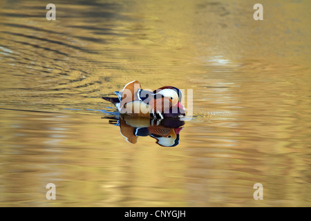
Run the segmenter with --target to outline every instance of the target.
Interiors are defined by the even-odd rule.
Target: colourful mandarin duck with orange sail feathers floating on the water
[[[140,82],[131,81],[121,91],[115,91],[117,97],[102,97],[113,103],[122,115],[147,118],[175,118],[185,116],[182,106],[182,93],[173,86],[163,86],[156,90],[144,90]]]

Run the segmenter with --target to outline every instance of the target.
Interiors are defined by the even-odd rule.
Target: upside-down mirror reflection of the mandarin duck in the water
[[[160,146],[177,146],[179,135],[185,122],[175,118],[149,119],[143,117],[119,116],[103,117],[109,124],[120,126],[120,132],[126,141],[135,144],[138,137],[150,136]]]

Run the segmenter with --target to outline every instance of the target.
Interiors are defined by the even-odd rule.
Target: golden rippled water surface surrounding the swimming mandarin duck
[[[53,3],[0,2],[0,206],[310,206],[310,1]],[[193,90],[176,148],[101,119],[133,79]]]

